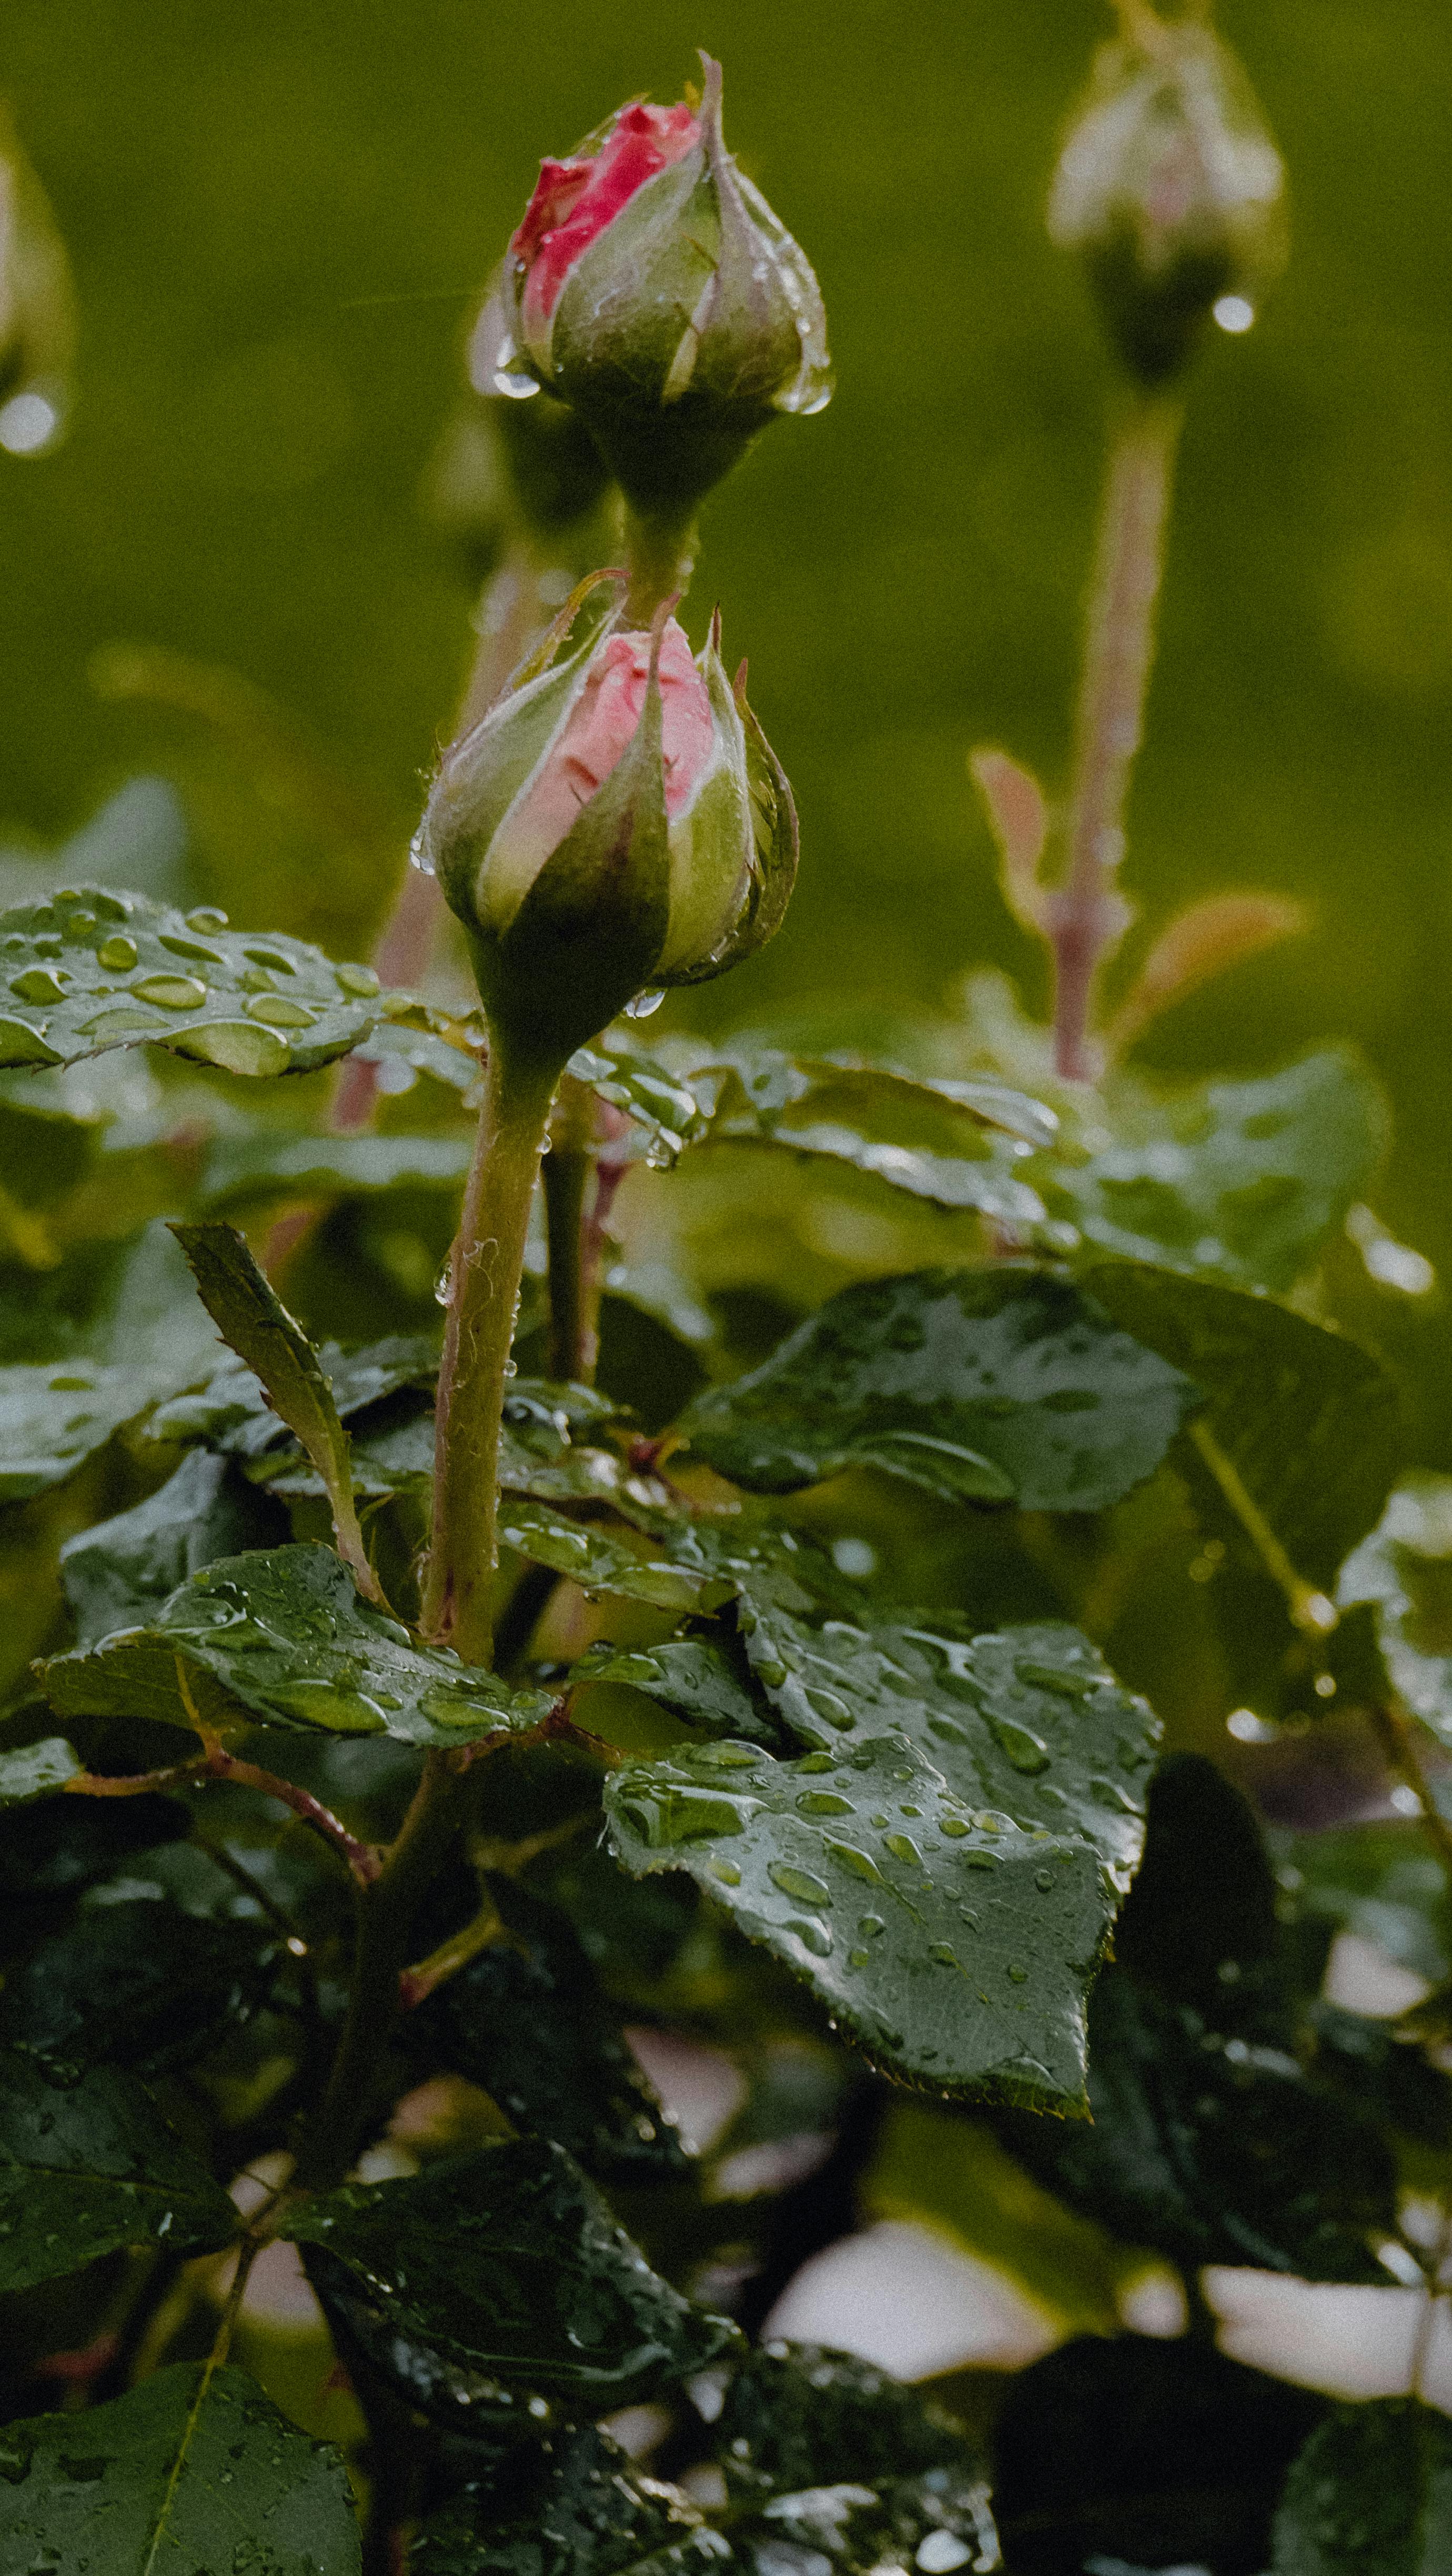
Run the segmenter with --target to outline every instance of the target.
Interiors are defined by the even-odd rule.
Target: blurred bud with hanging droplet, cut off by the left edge
[[[70,260],[0,108],[0,448],[41,456],[64,428],[75,358]]]

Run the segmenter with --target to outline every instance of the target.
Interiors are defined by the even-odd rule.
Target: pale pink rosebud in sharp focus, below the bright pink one
[[[790,894],[796,811],[718,623],[693,659],[664,611],[651,634],[618,608],[592,621],[445,755],[417,858],[520,1056],[564,1064],[646,987],[759,948]]]

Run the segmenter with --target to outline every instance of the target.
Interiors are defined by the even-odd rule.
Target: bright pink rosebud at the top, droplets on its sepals
[[[772,412],[832,394],[816,278],[721,142],[716,62],[700,113],[636,103],[543,162],[510,281],[499,389],[569,402],[646,515],[690,510]]]

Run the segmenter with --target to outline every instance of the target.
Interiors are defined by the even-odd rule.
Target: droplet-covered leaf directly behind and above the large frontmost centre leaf
[[[808,1625],[752,1587],[747,1602],[752,1669],[801,1744],[844,1752],[901,1728],[958,1798],[1089,1842],[1128,1888],[1159,1726],[1079,1628],[971,1636],[937,1613]]]

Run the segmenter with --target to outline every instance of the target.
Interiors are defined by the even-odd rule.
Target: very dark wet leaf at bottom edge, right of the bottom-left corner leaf
[[[409,2553],[417,2576],[700,2576],[731,2545],[669,2486],[636,2476],[595,2427],[569,2432],[517,2496],[471,2483]]]

